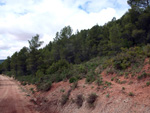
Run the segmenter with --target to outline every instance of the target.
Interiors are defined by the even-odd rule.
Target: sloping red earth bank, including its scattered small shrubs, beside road
[[[39,110],[44,113],[149,113],[149,60],[146,58],[138,72],[134,70],[134,75],[130,71],[131,67],[122,75],[109,73],[109,69],[99,73],[97,67],[96,73],[103,78],[101,84],[88,84],[85,79],[79,80],[76,87],[69,81],[54,83],[50,91],[40,93],[40,98],[37,98]],[[97,98],[94,100],[91,97],[89,101],[91,94],[97,95]]]

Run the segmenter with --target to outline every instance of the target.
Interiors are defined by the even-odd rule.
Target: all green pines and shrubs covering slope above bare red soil
[[[44,48],[40,48],[43,42],[39,35],[32,37],[29,47],[0,64],[0,73],[14,77],[22,85],[35,84],[39,91],[48,91],[52,83],[66,80],[75,89],[82,78],[86,78],[86,83],[109,87],[111,83],[103,82],[100,75],[103,70],[126,79],[129,73],[138,80],[148,77],[146,72],[137,73],[141,72],[145,58],[150,57],[150,7],[141,0],[128,0],[128,4],[131,9],[120,19],[113,18],[103,26],[95,25],[75,34],[66,26]],[[112,81],[125,83],[117,77]]]

